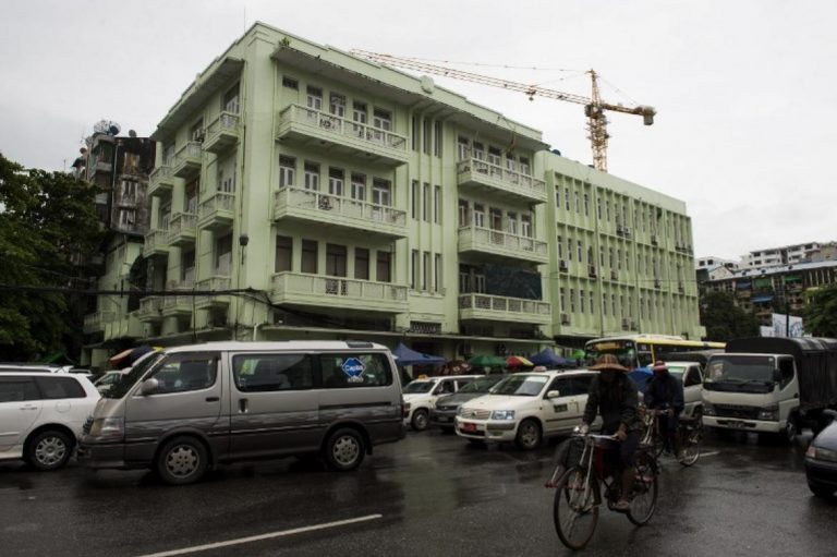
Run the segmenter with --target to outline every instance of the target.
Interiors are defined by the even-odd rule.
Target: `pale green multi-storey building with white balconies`
[[[153,138],[143,341],[464,358],[702,334],[682,202],[428,77],[257,23]]]

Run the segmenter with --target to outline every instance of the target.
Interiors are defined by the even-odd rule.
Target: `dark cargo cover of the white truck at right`
[[[753,337],[730,340],[724,351],[790,354],[799,373],[800,409],[837,405],[837,339]]]

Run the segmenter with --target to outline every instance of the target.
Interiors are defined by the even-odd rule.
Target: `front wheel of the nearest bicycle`
[[[553,505],[555,531],[570,549],[581,549],[596,530],[598,506],[595,504],[594,481],[581,467],[565,472],[558,480]]]

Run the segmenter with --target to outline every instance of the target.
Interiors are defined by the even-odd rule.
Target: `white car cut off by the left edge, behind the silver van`
[[[23,459],[38,470],[63,467],[98,400],[96,387],[77,374],[0,374],[0,460]]]

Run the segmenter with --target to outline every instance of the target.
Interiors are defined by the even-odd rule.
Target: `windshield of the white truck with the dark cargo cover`
[[[769,355],[712,356],[703,386],[708,390],[769,392],[776,359]]]

